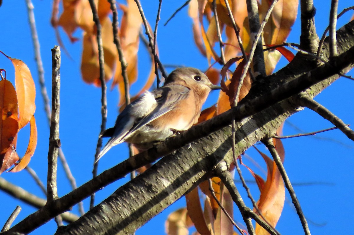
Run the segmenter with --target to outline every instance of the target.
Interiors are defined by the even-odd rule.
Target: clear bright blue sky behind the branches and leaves
[[[322,35],[329,22],[330,1],[315,0],[317,8],[316,26],[318,33]],[[192,36],[192,21],[187,16],[187,8],[181,11],[171,20],[166,27],[162,24],[184,1],[162,2],[161,25],[158,32],[158,43],[162,63],[198,67],[201,70],[207,69],[206,59],[203,58],[194,46]],[[51,48],[57,45],[55,32],[50,25],[50,13],[52,1],[33,1],[35,7],[36,25],[41,44],[41,55],[45,70],[46,87],[48,93],[51,91]],[[151,3],[143,1],[145,14],[154,25],[158,1]],[[350,1],[339,1],[339,11],[350,6]],[[348,22],[353,12],[349,12],[338,21],[338,28]],[[119,16],[120,17],[120,16]],[[0,50],[13,58],[23,60],[32,72],[37,87],[36,96],[36,121],[38,127],[38,146],[30,162],[30,166],[37,172],[39,177],[46,182],[47,152],[49,129],[44,113],[43,102],[38,84],[38,72],[34,62],[33,45],[28,25],[27,10],[25,1],[3,1],[0,7],[0,22],[2,36],[0,37]],[[293,26],[293,31],[287,40],[288,42],[299,42],[300,23],[299,19]],[[76,36],[81,32],[77,31]],[[80,77],[81,42],[71,44],[67,36],[61,30],[61,38],[65,47],[70,52],[72,60],[62,52],[61,64],[61,116],[60,116],[60,139],[62,149],[65,153],[70,168],[76,178],[78,186],[92,178],[93,156],[95,154],[97,136],[101,123],[101,90],[84,83]],[[133,85],[131,93],[134,94],[147,77],[150,65],[149,57],[141,47],[139,54],[139,75],[140,83]],[[1,68],[7,70],[7,78],[13,74],[12,65],[4,57],[0,57]],[[285,65],[286,60],[282,59],[278,69]],[[354,75],[350,72],[350,75]],[[110,86],[110,83],[108,84]],[[333,113],[337,114],[344,122],[354,124],[354,104],[352,102],[352,91],[354,82],[346,78],[340,78],[324,92],[316,97],[316,100],[325,105]],[[205,107],[215,102],[216,95],[208,100]],[[117,111],[118,93],[116,89],[108,92],[108,123],[107,127],[114,125]],[[295,128],[294,128],[295,126]],[[332,124],[312,111],[304,110],[290,117],[284,126],[284,135],[297,134],[296,128],[306,132],[321,130],[332,127]],[[27,136],[29,128],[20,132],[18,140],[18,152],[23,154],[27,147]],[[309,219],[309,226],[312,234],[333,234],[340,231],[341,234],[352,233],[352,203],[353,189],[353,148],[354,144],[348,140],[340,131],[334,130],[318,134],[315,137],[299,137],[283,140],[286,159],[285,168],[291,181],[295,184],[295,191],[301,203],[303,211]],[[261,151],[267,153],[262,145],[257,146]],[[246,152],[255,159],[263,169],[265,166],[261,157],[252,149]],[[267,153],[268,154],[268,153]],[[118,155],[118,157],[116,157]],[[128,156],[125,144],[116,146],[109,151],[99,164],[99,172],[108,169]],[[244,157],[245,159],[245,157]],[[247,161],[246,161],[247,162]],[[251,165],[249,163],[248,165]],[[253,166],[256,169],[255,166]],[[265,176],[261,170],[261,175]],[[245,168],[242,169],[247,179],[252,180],[251,175]],[[43,196],[38,186],[26,171],[16,174],[4,173],[1,175],[6,180],[15,183],[31,193]],[[58,167],[58,194],[65,195],[70,192],[62,167]],[[126,177],[118,182],[105,187],[97,193],[96,202],[99,203],[113,193],[120,185],[129,180]],[[312,185],[306,185],[312,183]],[[237,184],[240,191],[241,184]],[[255,184],[250,184],[251,190],[257,198],[258,190]],[[245,195],[245,193],[243,194]],[[302,234],[301,224],[295,210],[286,194],[286,202],[283,214],[277,225],[282,234]],[[21,205],[22,211],[15,223],[36,211],[32,206],[13,199],[7,194],[0,192],[0,226],[5,223],[8,216]],[[246,198],[246,197],[245,197]],[[248,202],[246,200],[246,202]],[[85,209],[89,207],[89,200],[84,201]],[[248,205],[251,206],[250,202]],[[160,215],[144,225],[136,234],[164,234],[164,223],[172,211],[185,206],[184,198],[178,200]],[[76,207],[74,213],[78,213]],[[235,212],[235,218],[241,221],[239,213]],[[53,234],[56,225],[53,221],[35,230],[32,234]]]

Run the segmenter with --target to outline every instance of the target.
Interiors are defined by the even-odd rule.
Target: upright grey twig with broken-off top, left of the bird
[[[57,166],[59,139],[59,110],[60,110],[60,48],[52,49],[52,116],[49,134],[48,175],[47,175],[47,203],[58,198]],[[63,225],[60,216],[55,217],[58,227]]]

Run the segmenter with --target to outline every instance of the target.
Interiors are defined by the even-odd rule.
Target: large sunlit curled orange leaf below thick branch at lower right
[[[263,159],[267,163],[268,169],[267,180],[261,190],[261,195],[259,196],[257,204],[265,219],[267,219],[270,225],[275,227],[284,207],[284,183],[274,161],[258,149],[257,151],[262,155]],[[259,226],[259,224],[256,224],[256,234],[268,235],[268,232]]]

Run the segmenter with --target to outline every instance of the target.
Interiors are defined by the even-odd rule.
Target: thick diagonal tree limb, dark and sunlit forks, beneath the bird
[[[247,99],[242,100],[238,107],[103,172],[68,195],[28,216],[9,232],[28,233],[92,192],[126,175],[135,167],[145,165],[148,160],[171,153],[176,148],[194,141],[190,148],[187,146],[180,148],[175,154],[164,157],[152,168],[119,188],[77,222],[62,227],[57,234],[65,231],[82,234],[83,230],[80,229],[83,228],[88,229],[85,230],[87,234],[132,233],[209,177],[210,170],[216,162],[222,159],[227,163],[232,161],[230,123],[233,119],[239,122],[236,123],[235,137],[236,154],[240,154],[265,136],[273,136],[280,123],[298,111],[298,105],[290,98],[291,96],[310,86],[309,94],[315,96],[338,78],[336,75],[338,71],[346,72],[351,69],[354,63],[353,25],[354,23],[349,23],[337,32],[339,55],[331,59],[329,64],[314,67],[303,61],[303,57],[296,56],[288,66],[257,82]],[[328,51],[325,54],[328,56]],[[316,85],[313,86],[314,84]],[[104,215],[109,222],[103,223],[99,215]],[[90,226],[85,226],[87,224]],[[111,227],[107,227],[107,224]],[[102,228],[103,226],[106,228]]]

